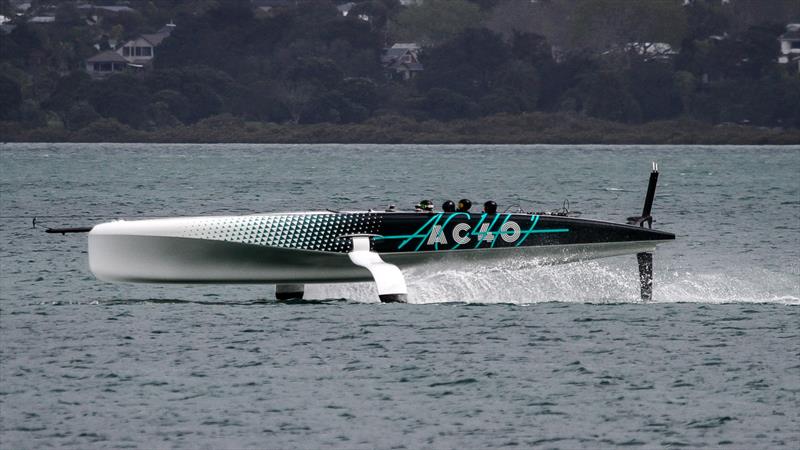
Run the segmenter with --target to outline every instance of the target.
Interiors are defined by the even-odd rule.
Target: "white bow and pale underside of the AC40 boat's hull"
[[[97,225],[89,234],[89,266],[107,281],[155,283],[331,283],[371,281],[347,253],[198,237],[196,230],[225,218],[158,219]],[[216,221],[216,222],[214,222]],[[206,233],[205,231],[203,233]],[[652,252],[663,241],[493,248],[457,252],[382,253],[405,268],[437,260],[525,256],[560,264]]]

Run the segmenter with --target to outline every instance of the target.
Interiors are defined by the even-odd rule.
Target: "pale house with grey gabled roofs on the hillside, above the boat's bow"
[[[156,33],[139,35],[116,50],[100,52],[86,60],[86,71],[92,76],[104,77],[123,70],[137,71],[152,68],[156,47],[169,37],[174,28],[175,24],[170,22]]]

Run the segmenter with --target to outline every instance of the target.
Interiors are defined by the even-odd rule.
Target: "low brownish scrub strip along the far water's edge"
[[[25,129],[0,122],[0,142],[162,144],[550,144],[550,145],[797,145],[800,129],[738,124],[712,125],[689,119],[622,124],[588,117],[528,113],[451,122],[378,116],[354,124],[245,122],[230,115],[192,125],[149,131],[101,119],[77,131]]]

